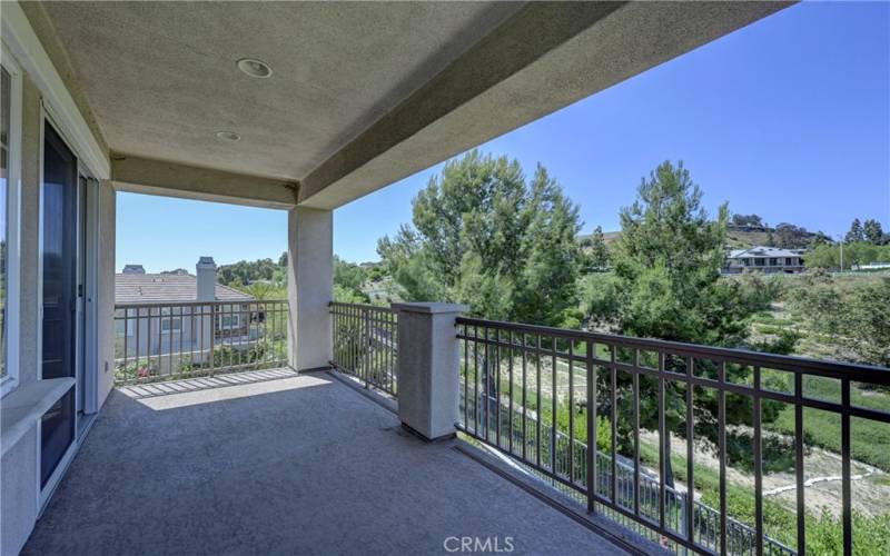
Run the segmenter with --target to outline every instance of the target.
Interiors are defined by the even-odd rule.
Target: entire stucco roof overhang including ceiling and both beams
[[[22,6],[119,188],[332,209],[789,2]]]

